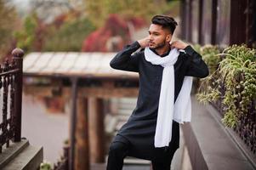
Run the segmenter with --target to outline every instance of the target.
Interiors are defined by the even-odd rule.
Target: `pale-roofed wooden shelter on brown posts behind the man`
[[[103,99],[136,97],[139,75],[111,69],[114,53],[31,53],[24,91],[71,99],[69,169],[105,161]]]

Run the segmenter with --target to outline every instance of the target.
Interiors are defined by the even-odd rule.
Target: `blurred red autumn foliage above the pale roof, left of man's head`
[[[135,30],[145,26],[145,21],[141,19],[124,20],[117,14],[110,14],[105,26],[92,32],[84,40],[82,51],[111,52],[121,50],[125,44],[131,42],[128,23],[133,25]]]

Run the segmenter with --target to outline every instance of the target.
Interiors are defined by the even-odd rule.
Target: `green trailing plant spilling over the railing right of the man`
[[[238,117],[246,115],[256,99],[255,49],[232,45],[221,54],[214,48],[205,52],[202,56],[213,70],[202,80],[197,99],[201,102],[220,99],[225,113],[222,121],[227,127],[236,127]]]

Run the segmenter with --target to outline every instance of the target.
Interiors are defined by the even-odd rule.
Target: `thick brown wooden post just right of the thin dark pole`
[[[77,128],[75,146],[75,170],[89,170],[88,142],[88,102],[85,98],[77,100]]]

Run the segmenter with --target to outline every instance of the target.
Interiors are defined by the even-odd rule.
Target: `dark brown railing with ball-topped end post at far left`
[[[24,52],[15,48],[13,59],[0,65],[0,153],[3,145],[9,147],[10,141],[19,142],[21,132],[22,104],[22,57]],[[1,107],[0,106],[0,107]]]

